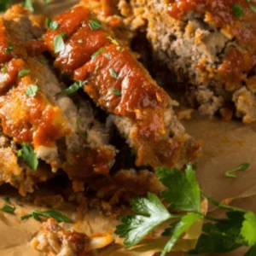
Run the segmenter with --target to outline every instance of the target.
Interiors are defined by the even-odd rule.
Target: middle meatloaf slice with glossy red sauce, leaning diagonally
[[[183,166],[195,160],[199,144],[178,123],[175,103],[106,27],[91,27],[95,19],[82,5],[55,18],[58,28],[44,35],[55,67],[85,81],[84,91],[97,106],[113,113],[120,133],[137,152],[137,166]],[[61,32],[67,35],[65,49],[55,53]]]

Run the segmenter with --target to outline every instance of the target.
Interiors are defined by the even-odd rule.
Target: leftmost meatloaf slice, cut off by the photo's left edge
[[[71,98],[61,94],[62,85],[38,57],[45,49],[35,40],[41,35],[29,12],[20,6],[13,6],[0,20],[3,135],[17,145],[29,143],[52,172],[64,170],[79,182],[99,173],[106,175],[115,156],[108,132],[93,117],[89,102],[81,101],[77,108]],[[13,160],[17,164],[17,157]],[[2,182],[9,182],[12,177],[5,178],[7,173],[12,175],[9,166],[2,166]],[[24,175],[22,171],[20,183]]]

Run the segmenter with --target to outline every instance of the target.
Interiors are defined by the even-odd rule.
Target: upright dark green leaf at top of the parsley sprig
[[[156,174],[167,187],[162,195],[169,202],[169,207],[174,210],[201,212],[201,192],[191,165],[187,166],[185,174],[176,168],[165,167],[157,168]]]

